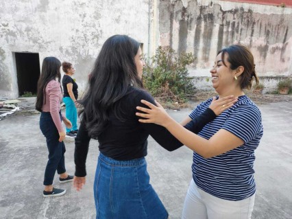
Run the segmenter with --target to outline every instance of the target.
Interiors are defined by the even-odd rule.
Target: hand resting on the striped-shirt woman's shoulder
[[[213,100],[209,106],[209,108],[216,114],[220,115],[223,111],[233,106],[233,104],[237,101],[237,97],[234,95],[230,95],[227,97],[219,98],[216,100],[216,97],[213,97]]]

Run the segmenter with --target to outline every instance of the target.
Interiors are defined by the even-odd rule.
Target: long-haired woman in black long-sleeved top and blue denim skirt
[[[154,103],[143,89],[144,65],[137,41],[124,35],[108,38],[90,74],[88,91],[80,100],[84,110],[75,138],[73,185],[82,189],[89,141],[98,139],[100,154],[94,183],[97,218],[168,218],[149,184],[147,137],[151,135],[169,151],[182,143],[162,126],[138,122],[135,113],[136,106],[142,106],[141,100]],[[186,128],[198,132],[229,102],[230,98],[214,101],[210,106],[213,111],[208,108]]]

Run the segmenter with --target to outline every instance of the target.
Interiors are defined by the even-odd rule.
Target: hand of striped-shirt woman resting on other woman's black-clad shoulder
[[[157,106],[147,102],[146,100],[141,100],[143,104],[149,106],[149,108],[144,108],[141,106],[137,106],[136,109],[138,111],[142,111],[144,113],[136,113],[139,117],[143,117],[145,119],[138,119],[139,122],[142,123],[155,123],[160,126],[167,126],[167,123],[171,121],[171,117],[167,114],[167,111],[156,102]]]

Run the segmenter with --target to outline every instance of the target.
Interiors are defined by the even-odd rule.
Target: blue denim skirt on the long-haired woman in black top
[[[144,157],[117,161],[100,153],[93,189],[98,219],[168,218],[149,183]]]

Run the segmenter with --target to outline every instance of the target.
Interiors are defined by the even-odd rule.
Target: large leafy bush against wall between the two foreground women
[[[158,47],[156,54],[146,62],[143,83],[151,95],[162,102],[184,103],[186,96],[195,90],[187,69],[194,60],[191,53],[178,55],[170,47]]]

